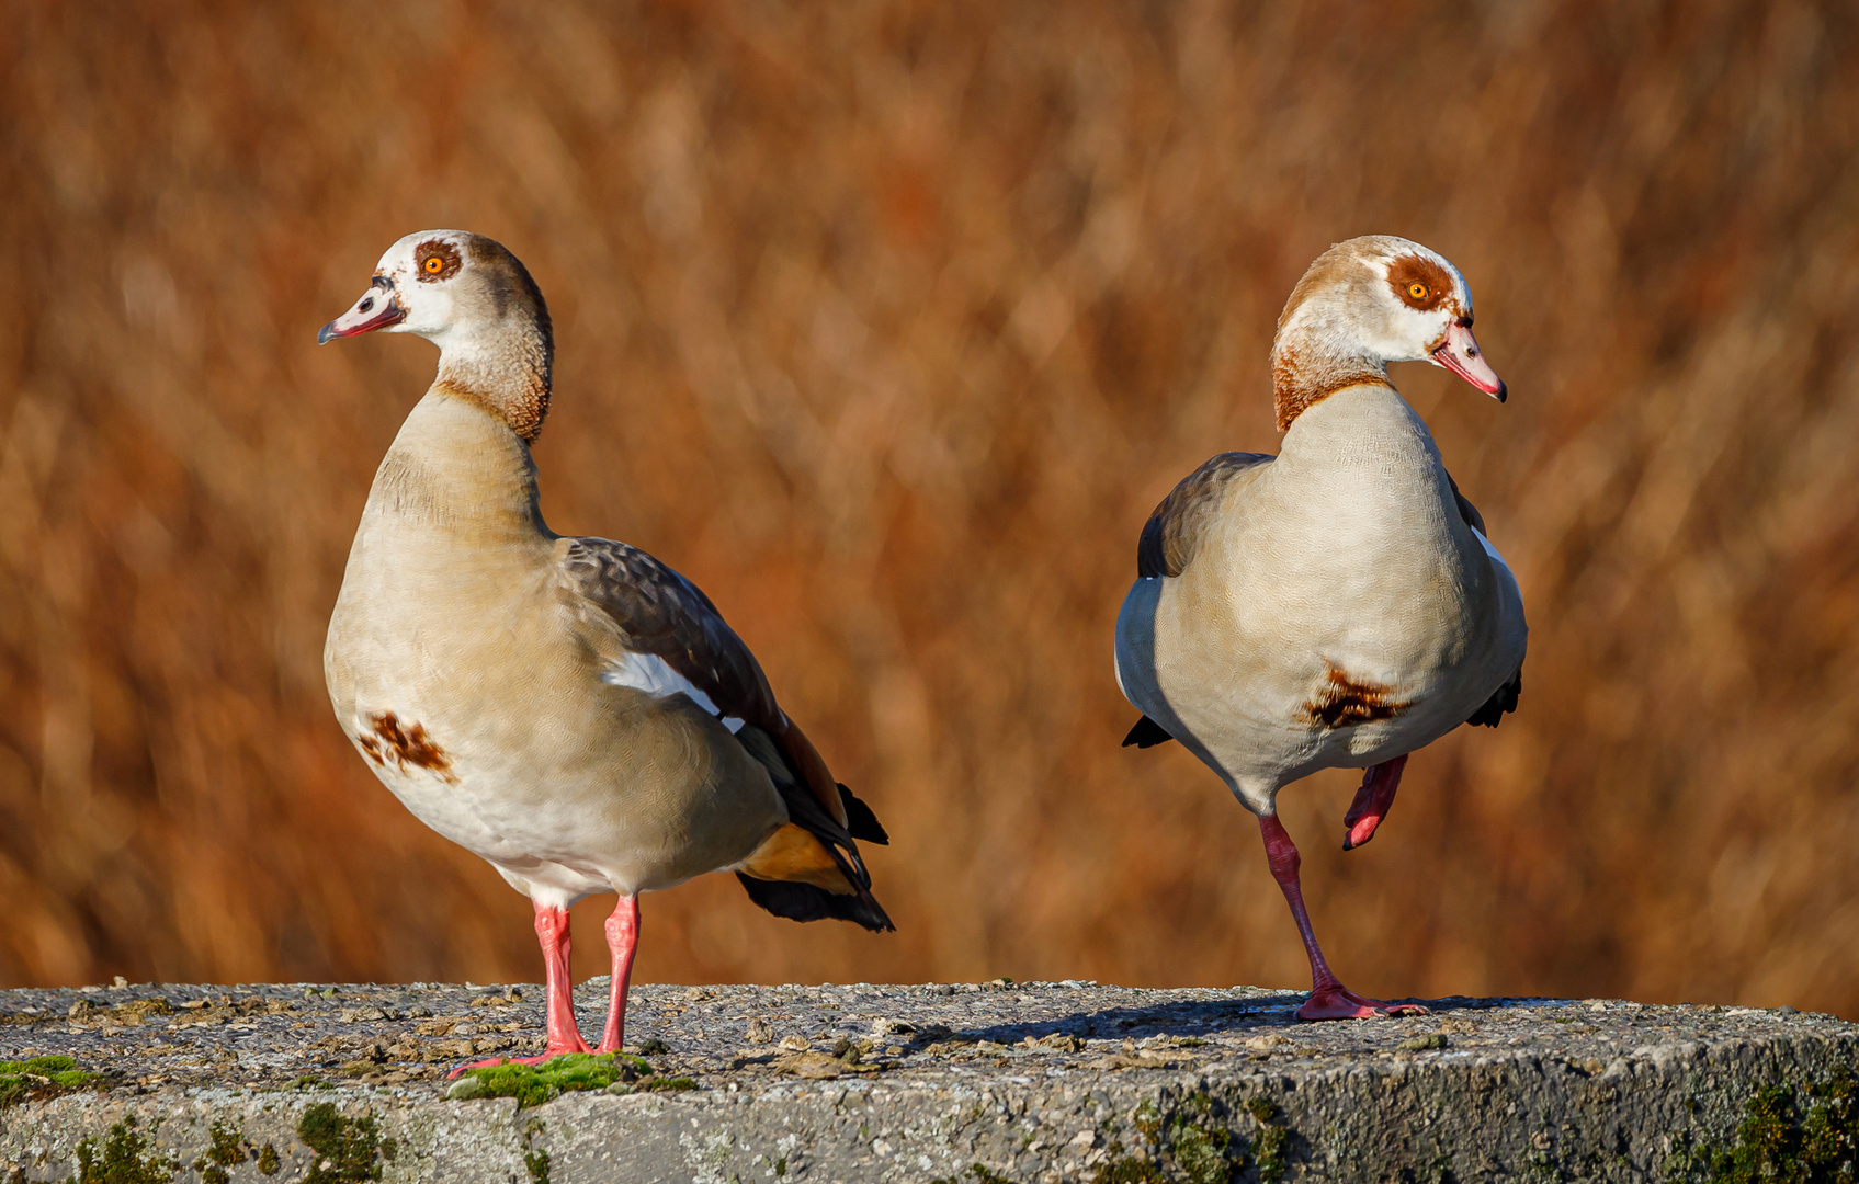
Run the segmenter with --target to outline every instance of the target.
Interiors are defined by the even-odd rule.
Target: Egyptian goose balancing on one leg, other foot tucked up
[[[1504,401],[1457,268],[1405,238],[1337,243],[1279,316],[1279,455],[1229,452],[1188,474],[1143,526],[1117,615],[1117,684],[1143,712],[1123,743],[1179,740],[1259,816],[1311,957],[1303,1019],[1417,1007],[1363,998],[1331,974],[1279,790],[1366,768],[1342,820],[1342,848],[1359,848],[1407,753],[1461,723],[1496,727],[1523,688],[1517,580],[1389,383],[1387,364],[1402,361]]]

